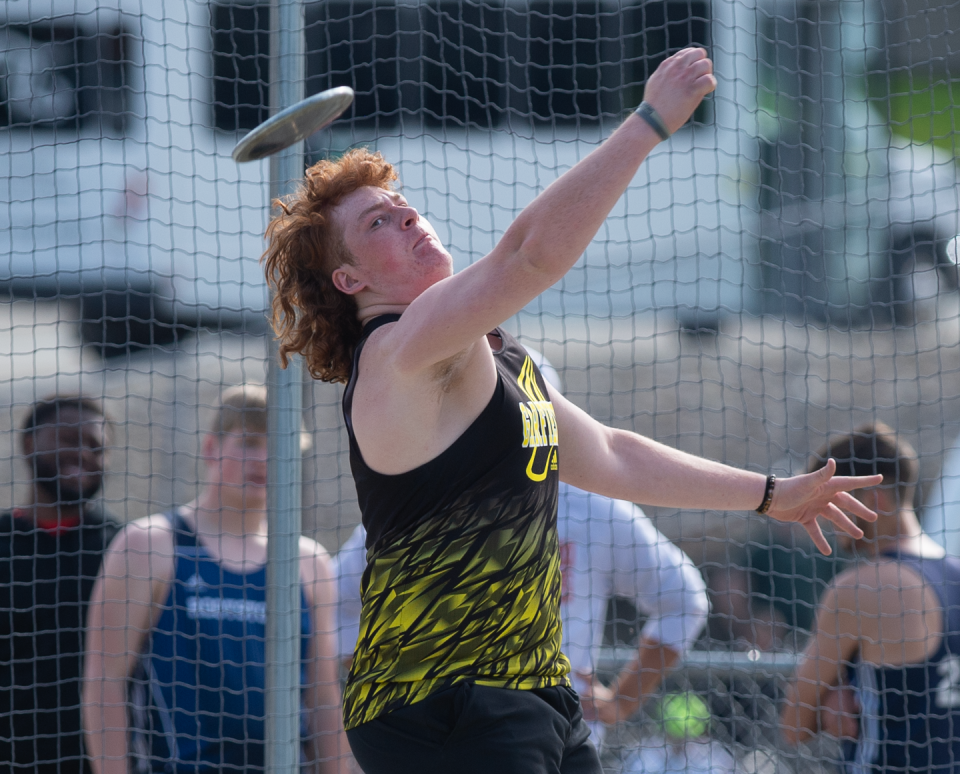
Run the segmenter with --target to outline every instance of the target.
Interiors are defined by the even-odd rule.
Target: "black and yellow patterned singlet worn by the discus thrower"
[[[470,680],[530,690],[567,684],[560,652],[557,420],[526,350],[496,331],[493,397],[426,464],[383,475],[363,461],[343,412],[367,530],[363,612],[344,693],[349,730]]]

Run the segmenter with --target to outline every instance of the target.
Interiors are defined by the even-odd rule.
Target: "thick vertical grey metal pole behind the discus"
[[[270,107],[276,112],[303,98],[301,0],[270,3]],[[303,175],[303,143],[270,158],[270,202]],[[284,370],[271,338],[268,384],[269,498],[267,512],[266,769],[300,768],[300,427],[303,373],[295,357]]]

